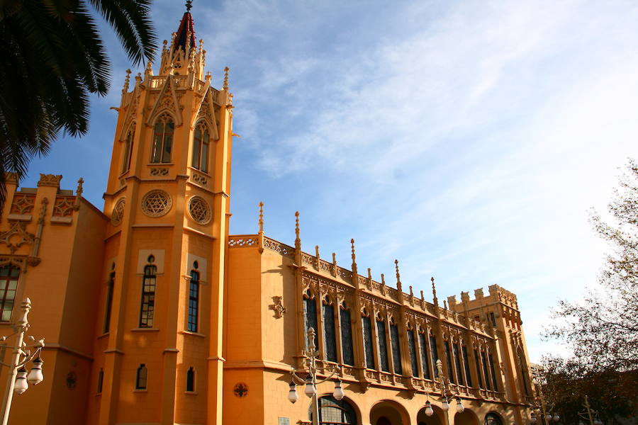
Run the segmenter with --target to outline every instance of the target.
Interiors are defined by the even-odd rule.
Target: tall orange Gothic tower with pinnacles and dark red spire
[[[233,106],[205,56],[187,10],[157,75],[125,79],[88,424],[221,423]]]

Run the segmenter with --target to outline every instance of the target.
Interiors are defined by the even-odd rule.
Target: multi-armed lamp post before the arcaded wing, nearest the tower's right
[[[319,425],[319,396],[317,393],[317,384],[332,379],[332,376],[334,376],[336,372],[333,371],[330,373],[328,378],[322,380],[317,379],[317,356],[319,351],[316,351],[315,348],[317,348],[315,346],[315,329],[308,328],[308,349],[303,350],[303,356],[306,356],[308,375],[306,375],[306,379],[303,379],[297,375],[297,371],[294,368],[291,368],[290,374],[292,379],[290,382],[290,391],[288,392],[288,400],[289,402],[294,403],[299,399],[295,380],[297,380],[300,385],[305,384],[306,389],[303,392],[311,399],[310,405],[313,410],[313,425]],[[335,382],[335,391],[332,392],[332,396],[337,400],[342,399],[344,396],[340,379],[337,379]]]

